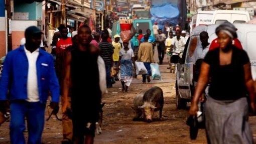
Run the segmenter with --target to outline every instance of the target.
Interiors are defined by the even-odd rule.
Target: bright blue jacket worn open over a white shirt
[[[54,70],[53,57],[40,49],[36,67],[40,102],[46,103],[49,90],[52,101],[59,102],[60,86]],[[0,100],[27,99],[28,68],[29,62],[24,46],[7,54],[0,80]],[[8,90],[10,97],[7,97]]]

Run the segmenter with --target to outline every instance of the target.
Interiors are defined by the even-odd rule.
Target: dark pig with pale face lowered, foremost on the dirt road
[[[144,118],[147,122],[152,122],[154,111],[159,110],[159,118],[162,120],[162,110],[164,106],[164,94],[160,87],[154,86],[147,90],[143,96],[143,105],[139,108],[143,109]]]

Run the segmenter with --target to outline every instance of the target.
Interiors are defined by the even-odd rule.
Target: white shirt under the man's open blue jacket
[[[28,51],[24,46],[25,53],[29,62],[29,70],[28,70],[28,81],[27,81],[27,93],[29,102],[38,102],[39,92],[38,92],[38,83],[37,83],[37,58],[39,55],[39,48],[36,49],[33,53]]]

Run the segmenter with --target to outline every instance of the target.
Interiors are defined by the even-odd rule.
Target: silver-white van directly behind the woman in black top
[[[198,26],[196,27],[187,41],[184,49],[182,58],[173,57],[171,58],[172,63],[177,64],[177,75],[176,75],[176,106],[177,108],[185,108],[187,102],[191,101],[193,95],[194,86],[192,83],[193,78],[193,55],[196,47],[201,46],[200,33],[206,31],[209,35],[208,42],[217,38],[215,29],[219,25],[210,26]],[[247,52],[251,62],[251,73],[253,80],[256,79],[256,25],[253,24],[234,24],[237,28],[237,37],[241,42],[243,49]],[[192,43],[193,41],[193,43]],[[179,59],[179,60],[178,60]]]

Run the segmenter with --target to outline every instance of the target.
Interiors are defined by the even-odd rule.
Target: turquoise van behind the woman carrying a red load
[[[148,29],[150,29],[151,30],[151,36],[153,36],[154,37],[154,35],[153,35],[153,29],[152,29],[152,21],[150,20],[150,19],[134,19],[133,20],[133,24],[134,24],[134,27],[135,27],[135,29],[136,29],[136,35],[131,39],[131,41],[133,42],[133,44],[134,44],[134,46],[135,47],[138,47],[139,46],[139,41],[138,41],[138,39],[137,39],[137,36],[138,36],[138,34],[139,34],[139,30],[141,29],[142,30],[142,33],[143,33],[143,35],[145,35],[146,34],[146,31],[148,30]],[[120,23],[119,23],[119,21],[116,21],[116,22],[114,22],[113,23],[113,25],[112,25],[112,39],[113,39],[113,36],[114,35],[116,35],[116,34],[118,34],[118,35],[120,35],[120,32],[121,32],[121,30],[120,30]],[[133,32],[132,32],[133,33]]]

